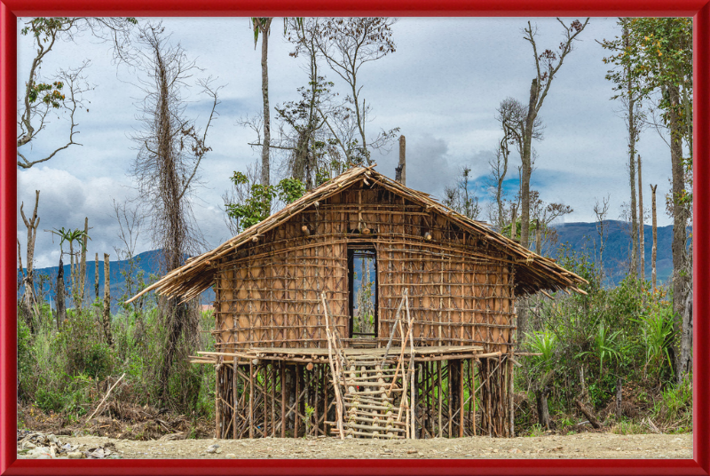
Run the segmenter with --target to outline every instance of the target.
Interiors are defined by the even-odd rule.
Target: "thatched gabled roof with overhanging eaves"
[[[315,202],[338,194],[345,187],[351,186],[362,179],[383,186],[383,188],[403,196],[411,202],[419,203],[427,210],[440,213],[458,226],[461,226],[462,229],[469,231],[469,233],[477,234],[481,239],[491,243],[493,247],[508,254],[516,263],[516,291],[518,294],[529,294],[537,291],[544,293],[544,290],[555,291],[566,290],[567,288],[584,293],[577,286],[581,283],[586,283],[586,281],[577,274],[573,274],[562,266],[557,265],[554,259],[544,258],[531,250],[527,250],[519,243],[496,233],[484,223],[465,217],[434,201],[429,194],[407,188],[399,182],[374,171],[372,168],[355,167],[314,188],[311,192],[296,200],[296,202],[288,204],[269,218],[264,219],[264,221],[248,227],[241,234],[222,243],[216,249],[188,259],[184,266],[172,270],[163,276],[160,281],[148,286],[146,290],[131,298],[130,301],[151,290],[156,290],[159,294],[169,297],[182,297],[184,301],[199,296],[202,291],[209,289],[209,286],[212,285],[217,271],[216,265],[220,258],[237,250],[244,243],[250,242],[254,237],[280,226],[289,218],[311,207]]]

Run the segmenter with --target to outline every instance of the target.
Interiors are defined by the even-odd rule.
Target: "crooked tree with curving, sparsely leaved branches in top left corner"
[[[72,41],[84,32],[90,33],[101,41],[114,45],[114,58],[121,59],[126,46],[130,43],[130,30],[135,19],[121,18],[35,18],[25,23],[21,29],[23,36],[32,36],[36,55],[28,72],[25,90],[18,99],[18,167],[29,169],[37,163],[50,160],[68,147],[80,145],[75,141],[79,133],[76,122],[78,109],[89,109],[83,103],[83,93],[92,89],[83,75],[89,61],[79,67],[59,70],[51,79],[40,75],[43,62],[52,52],[55,44]],[[67,139],[57,144],[49,154],[31,156],[28,146],[42,132],[53,113],[68,115],[69,128]]]

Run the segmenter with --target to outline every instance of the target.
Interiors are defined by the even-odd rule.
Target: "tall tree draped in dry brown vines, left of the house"
[[[168,271],[181,266],[185,256],[199,245],[199,231],[187,197],[198,179],[201,160],[210,150],[207,133],[216,115],[219,88],[212,88],[209,81],[200,82],[212,107],[204,131],[199,131],[194,121],[185,117],[184,90],[198,71],[194,61],[179,44],[170,43],[160,24],[141,28],[138,41],[145,48],[136,52],[135,59],[146,75],[139,80],[146,96],[139,103],[143,128],[132,138],[138,144],[133,175],[146,215],[151,217],[154,245],[162,249],[162,268]],[[159,375],[160,397],[164,400],[179,338],[195,338],[198,313],[171,298],[162,305],[162,318],[167,332]]]

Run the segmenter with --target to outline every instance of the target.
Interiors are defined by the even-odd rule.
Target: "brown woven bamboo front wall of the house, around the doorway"
[[[369,234],[360,233],[366,228]],[[331,325],[348,337],[347,250],[358,245],[377,251],[381,341],[390,336],[406,288],[415,345],[508,350],[515,322],[509,259],[446,217],[361,182],[222,260],[217,346],[326,346],[323,290]]]

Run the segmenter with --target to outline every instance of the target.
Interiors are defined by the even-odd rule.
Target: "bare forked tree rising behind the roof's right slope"
[[[533,46],[533,58],[535,59],[536,75],[533,78],[533,83],[530,85],[530,99],[527,107],[527,115],[525,116],[525,129],[523,134],[523,147],[520,158],[523,163],[522,176],[520,181],[520,199],[521,199],[521,231],[520,243],[527,248],[530,234],[530,177],[533,173],[533,131],[534,123],[542,103],[548,95],[550,84],[555,78],[560,67],[562,67],[564,58],[572,52],[574,41],[581,31],[587,26],[589,19],[581,23],[580,20],[574,20],[567,26],[563,20],[557,18],[557,21],[564,28],[564,40],[559,45],[559,51],[545,50],[538,54],[535,36],[537,28],[528,21],[527,28],[524,29],[524,38]]]

